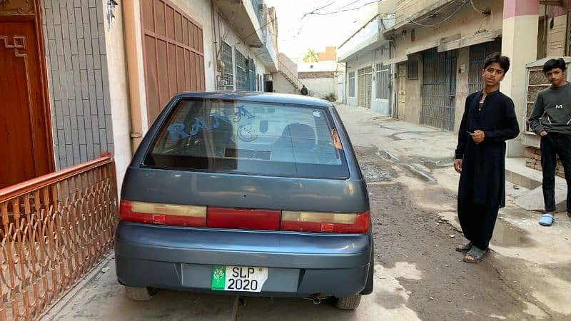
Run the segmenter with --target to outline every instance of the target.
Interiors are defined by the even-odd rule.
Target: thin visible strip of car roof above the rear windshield
[[[262,93],[248,91],[191,91],[177,93],[176,98],[209,98],[233,101],[252,101],[264,103],[293,103],[318,107],[332,107],[333,104],[319,98],[288,93]]]

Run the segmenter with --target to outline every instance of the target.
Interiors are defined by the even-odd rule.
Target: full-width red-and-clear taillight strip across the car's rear
[[[369,212],[323,213],[248,208],[212,208],[121,200],[121,220],[200,228],[289,230],[313,233],[367,233]]]

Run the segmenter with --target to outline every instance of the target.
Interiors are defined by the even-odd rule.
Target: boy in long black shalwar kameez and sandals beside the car
[[[466,253],[468,263],[480,262],[490,253],[497,211],[505,206],[505,141],[520,133],[513,101],[499,91],[509,68],[509,58],[487,56],[484,88],[466,98],[458,133],[458,218],[468,242],[456,250]]]

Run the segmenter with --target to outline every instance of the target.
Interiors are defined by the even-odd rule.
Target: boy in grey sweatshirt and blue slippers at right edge
[[[571,83],[568,83],[562,58],[550,59],[543,72],[551,86],[537,94],[530,116],[532,130],[541,136],[543,200],[545,215],[541,225],[550,226],[555,212],[555,166],[557,154],[567,180],[567,216],[571,218]]]

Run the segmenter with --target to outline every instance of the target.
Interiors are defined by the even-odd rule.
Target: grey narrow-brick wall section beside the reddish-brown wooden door
[[[41,1],[56,168],[113,153],[103,1]]]

